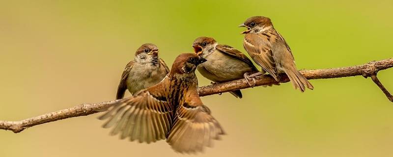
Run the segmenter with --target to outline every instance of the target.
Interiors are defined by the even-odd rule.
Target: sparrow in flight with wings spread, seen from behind
[[[194,53],[176,57],[169,74],[158,84],[140,90],[113,105],[99,119],[104,128],[131,141],[155,142],[167,139],[176,152],[201,152],[223,129],[198,95],[197,65],[206,59]]]

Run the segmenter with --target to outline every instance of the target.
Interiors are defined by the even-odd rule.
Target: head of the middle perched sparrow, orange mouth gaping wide
[[[216,50],[217,42],[210,37],[199,37],[194,40],[194,52],[202,57],[206,57],[209,53]]]

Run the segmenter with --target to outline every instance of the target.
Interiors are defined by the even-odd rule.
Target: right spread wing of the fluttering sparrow
[[[199,96],[196,99],[200,102]],[[169,145],[180,153],[202,152],[203,147],[212,146],[213,139],[220,139],[220,135],[225,134],[209,108],[205,105],[189,105],[194,102],[186,101],[177,108],[167,138]]]

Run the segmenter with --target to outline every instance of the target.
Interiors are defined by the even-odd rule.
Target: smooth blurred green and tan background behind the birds
[[[244,28],[270,17],[298,69],[393,57],[392,0],[80,1],[2,0],[0,120],[16,121],[112,100],[124,66],[154,43],[170,66],[199,36],[243,52]],[[378,73],[393,91],[393,69]],[[199,85],[210,84],[199,74]],[[311,80],[203,97],[227,135],[201,157],[392,157],[393,104],[370,78]],[[118,140],[99,114],[0,130],[1,157],[181,157],[164,142]],[[194,156],[194,155],[192,155]]]

